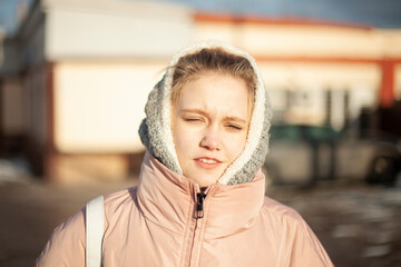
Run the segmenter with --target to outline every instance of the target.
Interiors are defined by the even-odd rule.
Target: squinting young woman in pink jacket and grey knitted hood
[[[264,196],[272,111],[250,55],[178,52],[145,111],[139,184],[102,204],[102,266],[333,266],[301,216]],[[82,209],[56,228],[37,266],[85,266],[85,221]]]

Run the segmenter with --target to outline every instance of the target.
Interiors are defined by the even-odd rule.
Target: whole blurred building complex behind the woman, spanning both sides
[[[401,99],[401,29],[37,0],[14,37],[0,34],[1,151],[22,145],[50,180],[126,177],[148,92],[174,52],[204,39],[255,57],[277,121],[342,128]]]

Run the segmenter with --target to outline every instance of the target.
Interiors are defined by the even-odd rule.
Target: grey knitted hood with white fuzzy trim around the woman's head
[[[218,184],[222,185],[247,182],[253,179],[255,172],[262,167],[268,151],[272,109],[255,60],[247,52],[227,43],[216,41],[199,42],[173,57],[165,76],[149,93],[145,107],[146,118],[139,127],[140,140],[146,149],[167,168],[183,174],[174,147],[170,127],[173,67],[182,57],[196,53],[205,48],[219,48],[228,53],[246,58],[256,75],[255,101],[245,148],[218,179]]]

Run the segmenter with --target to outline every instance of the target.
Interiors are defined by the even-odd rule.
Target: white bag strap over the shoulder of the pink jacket
[[[104,197],[97,197],[86,205],[86,267],[101,266],[101,243],[104,226]]]

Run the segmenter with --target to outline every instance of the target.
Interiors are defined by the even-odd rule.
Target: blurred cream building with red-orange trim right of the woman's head
[[[401,98],[399,29],[213,14],[195,21],[197,38],[227,40],[256,58],[288,121],[342,127],[344,112]]]

